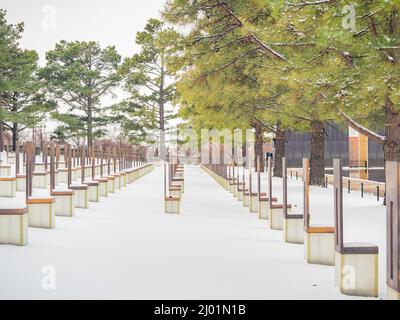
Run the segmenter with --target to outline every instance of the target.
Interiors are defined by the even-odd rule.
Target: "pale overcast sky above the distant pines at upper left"
[[[160,17],[166,0],[1,0],[10,23],[24,22],[22,47],[44,63],[60,40],[94,40],[115,45],[122,56],[137,51],[135,34],[149,18]]]

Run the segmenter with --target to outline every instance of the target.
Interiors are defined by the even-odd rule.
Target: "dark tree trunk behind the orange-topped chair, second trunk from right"
[[[324,123],[311,122],[310,185],[325,185]]]

